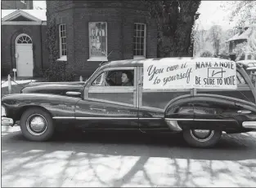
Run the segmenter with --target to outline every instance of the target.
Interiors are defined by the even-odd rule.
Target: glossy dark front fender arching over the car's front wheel
[[[10,94],[2,97],[2,106],[6,109],[6,116],[13,120],[20,120],[29,107],[43,107],[52,117],[73,118],[75,104],[80,99],[54,94]]]

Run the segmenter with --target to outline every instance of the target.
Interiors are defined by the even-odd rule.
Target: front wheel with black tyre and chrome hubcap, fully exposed
[[[47,141],[54,132],[52,116],[41,108],[29,108],[20,118],[20,129],[30,141]]]

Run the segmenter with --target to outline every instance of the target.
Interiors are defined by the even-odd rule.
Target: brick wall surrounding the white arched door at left
[[[40,70],[42,69],[42,55],[45,56],[45,54],[42,54],[40,30],[41,26],[39,25],[2,25],[2,76],[7,76],[7,74],[12,72],[12,68],[16,68],[15,41],[16,37],[21,33],[25,33],[32,38],[34,53],[34,76],[38,76]],[[44,62],[46,62],[46,60]]]

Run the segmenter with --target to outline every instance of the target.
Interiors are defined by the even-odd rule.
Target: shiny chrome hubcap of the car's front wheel
[[[27,119],[26,127],[29,133],[41,135],[47,130],[47,120],[40,114],[33,114]]]

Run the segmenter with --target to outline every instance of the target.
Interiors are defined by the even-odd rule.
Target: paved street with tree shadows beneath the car
[[[19,127],[2,126],[2,186],[253,187],[256,133],[195,149],[175,134],[64,133],[28,142]]]

